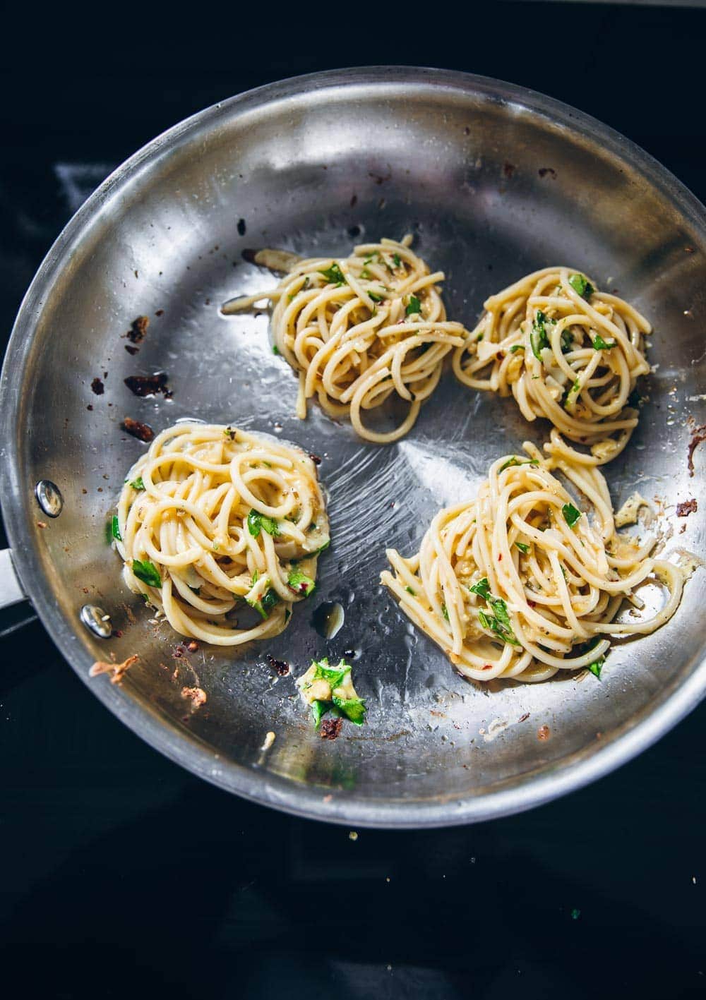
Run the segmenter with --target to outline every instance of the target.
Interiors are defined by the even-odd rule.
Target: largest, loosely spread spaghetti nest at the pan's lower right
[[[547,457],[526,443],[526,456],[498,459],[475,500],[448,507],[432,521],[419,553],[387,557],[381,582],[404,613],[473,680],[513,677],[542,681],[558,670],[588,667],[600,674],[606,636],[649,633],[679,604],[681,570],[650,556],[615,530],[600,470],[567,461],[552,445]],[[553,474],[590,501],[595,522]],[[643,581],[658,580],[668,596],[649,620],[615,618]]]

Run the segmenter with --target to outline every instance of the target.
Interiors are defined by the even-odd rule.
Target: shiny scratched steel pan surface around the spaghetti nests
[[[511,399],[471,392],[448,371],[396,444],[362,443],[316,407],[299,421],[296,379],[272,353],[267,316],[226,318],[219,304],[272,284],[244,250],[344,255],[355,242],[407,232],[446,272],[448,313],[468,326],[488,294],[552,263],[601,286],[610,279],[649,317],[650,400],[606,474],[616,507],[635,489],[659,498],[660,526],[673,532],[667,552],[706,556],[706,502],[675,516],[677,502],[704,496],[698,450],[693,478],[687,471],[688,420],[705,417],[704,209],[615,132],[494,80],[343,70],[272,84],[177,125],[120,167],[62,233],[27,293],[3,372],[13,558],[68,662],[112,712],[194,773],[350,825],[448,825],[527,809],[634,756],[706,688],[703,569],[674,619],[616,647],[600,682],[474,686],[379,586],[387,546],[416,551],[439,507],[472,496],[495,458],[527,438],[541,444],[548,426],[528,425]],[[121,335],[139,315],[150,326],[133,357]],[[156,371],[168,373],[168,401],[138,399],[123,384]],[[145,447],[121,430],[125,416],[155,430],[182,417],[231,423],[322,456],[333,542],[316,595],[281,636],[173,659],[176,637],[125,590],[104,541]],[[65,498],[52,521],[36,505],[40,479]],[[87,601],[121,637],[101,641],[83,627]],[[331,641],[311,625],[323,601],[345,609]],[[355,650],[368,721],[322,740],[294,676],[312,657],[346,649]],[[89,680],[95,660],[133,653],[139,663],[121,686]],[[278,679],[268,653],[292,674]],[[181,697],[194,684],[208,698],[198,709]],[[548,739],[538,739],[542,727]],[[263,751],[269,730],[276,739]]]

